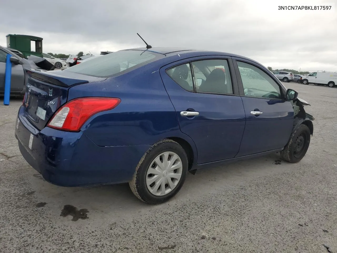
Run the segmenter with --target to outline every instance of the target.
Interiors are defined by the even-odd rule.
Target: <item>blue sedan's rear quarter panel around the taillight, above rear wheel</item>
[[[105,81],[71,87],[68,101],[86,96],[121,99],[116,108],[92,116],[81,129],[84,134],[98,146],[148,145],[179,137],[195,150],[193,141],[179,129],[158,69],[146,65]]]

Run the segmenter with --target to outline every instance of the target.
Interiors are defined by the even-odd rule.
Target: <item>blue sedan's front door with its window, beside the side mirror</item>
[[[241,58],[234,61],[246,126],[238,157],[283,148],[294,121],[285,101],[285,89],[260,65]]]

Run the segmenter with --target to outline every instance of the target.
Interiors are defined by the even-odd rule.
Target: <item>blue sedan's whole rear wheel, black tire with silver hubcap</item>
[[[167,159],[169,159],[167,161],[171,160],[173,164],[171,164],[171,167],[165,167],[165,170],[161,170],[158,164],[164,166],[161,162],[165,160],[163,158],[166,156]],[[175,158],[177,159],[173,161],[172,159]],[[180,166],[175,166],[177,169],[172,170],[170,173],[172,165],[175,165],[177,161]],[[167,163],[167,165],[169,166],[170,163]],[[187,170],[188,159],[185,150],[177,142],[164,139],[155,143],[144,154],[136,167],[129,186],[133,194],[145,203],[152,205],[164,203],[179,192],[184,184]],[[174,177],[170,177],[170,174],[174,175]],[[176,176],[179,174],[180,179],[177,179]],[[148,182],[149,185],[147,184],[148,178],[153,178],[153,180],[150,181],[151,184]],[[155,178],[157,179],[155,180]],[[162,180],[165,180],[164,183],[162,183]],[[168,180],[171,180],[172,184],[170,184]],[[164,192],[162,191],[163,186],[165,187]]]

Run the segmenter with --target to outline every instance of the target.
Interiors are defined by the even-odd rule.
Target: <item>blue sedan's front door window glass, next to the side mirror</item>
[[[261,69],[237,61],[246,96],[281,99],[280,86]]]

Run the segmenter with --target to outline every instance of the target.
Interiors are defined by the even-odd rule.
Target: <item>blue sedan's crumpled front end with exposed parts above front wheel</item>
[[[303,99],[300,99],[299,97],[297,97],[295,100],[291,101],[292,105],[293,105],[293,109],[294,109],[294,124],[293,124],[293,130],[296,129],[296,127],[300,124],[304,124],[306,126],[308,126],[309,130],[310,130],[310,134],[312,136],[314,128],[313,128],[313,124],[312,124],[312,120],[315,120],[315,118],[305,112],[304,110],[304,106],[305,105],[309,105],[310,104],[308,102],[306,102]]]

